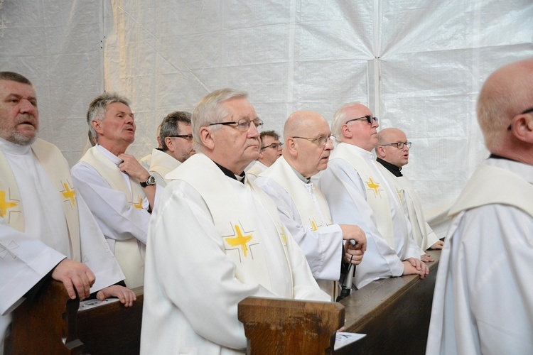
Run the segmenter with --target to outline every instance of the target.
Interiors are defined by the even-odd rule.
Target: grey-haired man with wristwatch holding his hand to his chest
[[[136,129],[127,99],[100,95],[89,105],[87,123],[97,144],[72,167],[72,178],[119,261],[126,285],[135,288],[144,283],[156,181],[133,155],[125,153]]]

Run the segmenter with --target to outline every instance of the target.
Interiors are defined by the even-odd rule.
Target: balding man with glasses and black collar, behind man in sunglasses
[[[419,194],[409,179],[402,174],[402,167],[409,163],[411,142],[400,129],[382,129],[377,133],[376,161],[384,175],[402,196],[404,212],[411,222],[411,237],[422,250],[442,249],[438,239],[426,222]]]

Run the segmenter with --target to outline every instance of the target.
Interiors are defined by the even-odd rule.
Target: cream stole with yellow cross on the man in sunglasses
[[[372,170],[369,164],[375,163],[374,160],[363,158],[357,149],[348,143],[339,143],[331,152],[330,160],[343,159],[352,165],[365,185],[367,202],[374,212],[376,226],[379,233],[383,236],[387,244],[394,249],[396,241],[394,240],[394,228],[392,226],[392,213],[387,194],[386,181],[382,180],[382,174]],[[376,168],[378,170],[379,168]]]

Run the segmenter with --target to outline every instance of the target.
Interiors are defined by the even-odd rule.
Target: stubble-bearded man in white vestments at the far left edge
[[[31,82],[0,72],[0,354],[11,311],[50,277],[71,298],[97,292],[100,300],[119,297],[126,306],[135,300],[116,285],[124,274],[77,194],[67,161],[36,137],[38,124]]]

